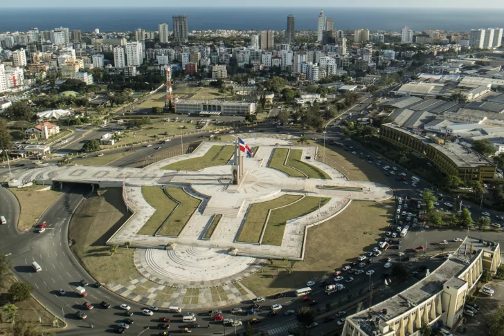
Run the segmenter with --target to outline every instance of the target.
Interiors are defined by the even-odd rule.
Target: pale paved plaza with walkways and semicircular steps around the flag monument
[[[233,304],[253,297],[239,281],[260,270],[266,258],[303,259],[308,227],[336,216],[352,200],[381,201],[393,196],[393,191],[384,185],[348,180],[337,169],[316,160],[316,147],[297,146],[277,138],[249,138],[246,142],[250,147],[259,148],[253,158],[244,158],[244,178],[237,186],[230,185],[233,158],[228,165],[199,171],[162,169],[180,160],[202,157],[215,145],[233,145],[226,142],[202,142],[190,154],[168,158],[143,169],[80,165],[29,169],[17,174],[9,185],[19,187],[37,180],[44,184],[75,182],[123,187],[125,203],[132,216],[107,244],[123,245],[129,241],[132,247],[138,248],[134,263],[141,276],[127,283],[112,283],[110,288],[134,301],[158,306],[179,303],[195,305],[189,308],[205,308],[205,305]],[[330,179],[293,178],[269,168],[273,150],[279,147],[301,149],[301,160],[322,169]],[[179,236],[137,234],[156,212],[143,198],[145,185],[182,187],[187,194],[201,200]],[[237,241],[253,203],[286,194],[330,200],[311,214],[287,221],[280,246]],[[222,214],[219,224],[210,239],[203,239],[216,214]],[[173,291],[166,292],[165,288]],[[217,294],[215,288],[218,288]]]

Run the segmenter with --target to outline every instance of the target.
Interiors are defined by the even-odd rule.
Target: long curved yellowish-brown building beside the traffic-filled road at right
[[[458,142],[438,144],[394,124],[382,124],[380,138],[425,156],[444,174],[458,176],[465,183],[492,180],[496,172],[492,162]]]

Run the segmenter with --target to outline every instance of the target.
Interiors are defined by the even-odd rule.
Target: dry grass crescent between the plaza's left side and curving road
[[[107,284],[138,275],[133,265],[135,249],[118,248],[111,254],[105,242],[129,218],[121,188],[100,189],[84,200],[69,226],[71,249],[89,273]]]

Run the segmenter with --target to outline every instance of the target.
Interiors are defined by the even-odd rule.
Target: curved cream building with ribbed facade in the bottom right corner
[[[451,258],[399,294],[346,318],[342,336],[420,335],[422,324],[452,328],[484,270],[501,264],[498,243],[467,238]]]

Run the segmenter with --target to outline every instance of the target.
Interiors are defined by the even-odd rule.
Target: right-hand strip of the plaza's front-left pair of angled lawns
[[[170,197],[177,200],[180,204],[170,218],[168,218],[168,221],[161,227],[158,234],[163,236],[179,236],[189,218],[191,218],[192,214],[199,207],[201,200],[190,196],[182,188],[166,187],[165,190]]]

